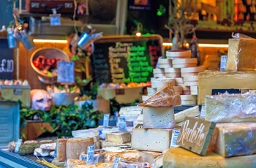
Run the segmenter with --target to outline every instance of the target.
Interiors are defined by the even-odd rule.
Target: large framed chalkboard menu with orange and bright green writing
[[[99,83],[148,82],[162,56],[162,37],[103,37],[94,44],[92,67]]]

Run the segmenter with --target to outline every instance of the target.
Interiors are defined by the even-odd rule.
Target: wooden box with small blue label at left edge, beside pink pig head
[[[29,85],[0,85],[0,91],[4,100],[20,100],[23,106],[30,107],[31,88]]]

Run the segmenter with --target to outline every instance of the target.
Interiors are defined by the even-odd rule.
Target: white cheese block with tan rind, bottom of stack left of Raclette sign
[[[132,148],[162,152],[170,148],[172,129],[132,129]]]

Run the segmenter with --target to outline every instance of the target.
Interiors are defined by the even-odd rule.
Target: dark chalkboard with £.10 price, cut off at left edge
[[[13,50],[9,48],[7,39],[0,39],[0,80],[13,80]]]

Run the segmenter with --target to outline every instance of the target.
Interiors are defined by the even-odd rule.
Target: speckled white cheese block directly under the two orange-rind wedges
[[[143,128],[171,129],[174,126],[174,109],[172,106],[143,107]]]

